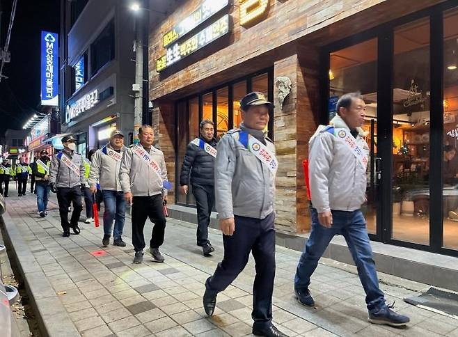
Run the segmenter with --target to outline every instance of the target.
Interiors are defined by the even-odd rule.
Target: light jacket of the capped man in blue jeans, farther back
[[[121,183],[119,181],[119,169],[121,162],[111,158],[106,149],[113,149],[110,143],[106,144],[103,148],[95,151],[92,162],[90,163],[89,171],[89,187],[95,187],[97,182],[100,184],[100,189],[107,189],[109,191],[122,191]],[[119,152],[122,156],[127,148],[123,146]]]

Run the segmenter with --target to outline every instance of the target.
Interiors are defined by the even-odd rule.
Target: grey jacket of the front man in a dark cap
[[[240,128],[267,143],[275,153],[274,143],[264,138],[264,132]],[[240,129],[230,130],[221,138],[216,150],[214,182],[216,210],[219,219],[239,215],[264,219],[274,212],[275,175],[260,160],[236,141],[232,134]]]

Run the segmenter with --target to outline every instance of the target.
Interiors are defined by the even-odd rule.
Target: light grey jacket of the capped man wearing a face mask
[[[69,157],[74,164],[79,167],[80,174],[74,173],[67,165],[65,165],[61,156]],[[86,183],[84,178],[84,159],[77,152],[71,153],[68,150],[62,150],[57,155],[54,155],[49,168],[49,183],[55,184],[56,187],[75,187]]]

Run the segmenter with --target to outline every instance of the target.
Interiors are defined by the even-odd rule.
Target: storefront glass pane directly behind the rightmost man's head
[[[329,119],[336,113],[338,99],[345,93],[360,91],[366,103],[363,130],[370,148],[368,164],[368,203],[362,210],[368,233],[377,233],[377,193],[374,175],[377,157],[377,38],[331,53],[329,70]],[[372,169],[371,169],[372,168]],[[372,174],[371,174],[372,172]]]

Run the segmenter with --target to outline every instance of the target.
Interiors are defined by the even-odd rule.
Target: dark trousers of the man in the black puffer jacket
[[[192,185],[192,194],[197,206],[197,245],[205,246],[208,240],[208,225],[214,205],[214,187],[212,185]]]

